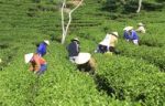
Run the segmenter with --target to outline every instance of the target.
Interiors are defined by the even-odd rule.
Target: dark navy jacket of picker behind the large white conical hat
[[[68,51],[68,56],[77,56],[80,49],[79,49],[79,44],[76,41],[73,41],[68,46],[67,46],[67,51]]]

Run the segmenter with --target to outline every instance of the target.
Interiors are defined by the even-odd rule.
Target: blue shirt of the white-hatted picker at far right
[[[139,35],[136,34],[136,32],[134,30],[131,31],[131,34],[129,34],[128,31],[124,32],[124,39],[127,40],[139,40]]]

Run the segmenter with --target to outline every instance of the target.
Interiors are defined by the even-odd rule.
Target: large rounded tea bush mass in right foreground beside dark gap
[[[164,74],[157,73],[158,68],[143,61],[121,56],[101,55],[98,62],[97,81],[103,81],[102,86],[107,86],[106,91],[111,91],[111,95],[147,106],[163,106],[165,98],[162,81],[165,78]]]

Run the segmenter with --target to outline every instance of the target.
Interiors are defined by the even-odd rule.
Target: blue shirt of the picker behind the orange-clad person
[[[46,43],[41,43],[36,50],[36,53],[40,54],[41,56],[46,54]]]

